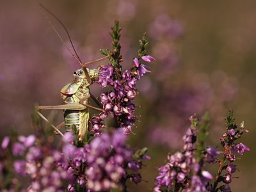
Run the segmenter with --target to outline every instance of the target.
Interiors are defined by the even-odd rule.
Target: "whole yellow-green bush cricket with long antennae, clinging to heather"
[[[61,89],[61,97],[65,104],[58,105],[58,106],[37,106],[37,109],[63,109],[64,111],[64,122],[62,122],[60,125],[57,125],[56,127],[52,125],[47,118],[45,118],[42,113],[37,111],[38,115],[41,116],[46,122],[51,124],[51,127],[55,129],[55,132],[57,134],[61,134],[63,136],[63,133],[60,132],[60,128],[65,125],[66,131],[72,131],[72,127],[75,125],[77,130],[77,136],[79,141],[84,141],[84,138],[86,137],[86,133],[88,132],[88,122],[90,120],[90,109],[95,109],[98,111],[104,111],[100,108],[95,108],[93,106],[90,106],[89,99],[92,98],[95,100],[95,102],[100,106],[99,101],[90,93],[89,86],[92,84],[93,81],[99,77],[99,69],[90,69],[86,68],[87,65],[90,65],[92,63],[96,63],[97,61],[104,60],[108,58],[109,56],[104,56],[103,58],[100,58],[99,60],[90,61],[83,63],[81,59],[79,58],[76,49],[74,48],[74,45],[72,44],[72,40],[70,38],[70,35],[67,31],[67,28],[65,28],[64,24],[61,22],[58,17],[56,17],[52,12],[47,10],[44,6],[40,4],[41,8],[44,9],[46,12],[50,13],[52,17],[54,17],[58,22],[60,22],[61,26],[65,29],[68,38],[70,40],[70,44],[72,45],[72,48],[74,49],[75,54],[70,51],[70,49],[65,44],[63,38],[61,38],[58,31],[54,28],[54,26],[51,24],[51,21],[47,19],[46,15],[43,13],[45,19],[49,22],[52,29],[55,31],[55,33],[60,38],[61,42],[65,45],[65,47],[68,49],[70,54],[74,56],[74,58],[79,62],[79,64],[82,66],[82,68],[77,69],[73,74],[73,80],[71,83],[68,83]]]

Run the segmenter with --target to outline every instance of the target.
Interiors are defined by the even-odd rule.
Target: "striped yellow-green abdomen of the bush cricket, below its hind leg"
[[[89,119],[88,109],[82,111],[66,109],[64,111],[66,131],[72,131],[72,125],[76,125],[79,140],[84,140],[85,134],[88,131]]]

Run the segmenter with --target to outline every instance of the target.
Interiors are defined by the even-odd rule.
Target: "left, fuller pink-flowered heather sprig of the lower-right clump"
[[[168,163],[158,169],[154,191],[207,191],[212,175],[204,170],[204,163],[195,157],[198,131],[196,115],[190,116],[189,122],[191,125],[182,138],[183,149],[169,154]]]

